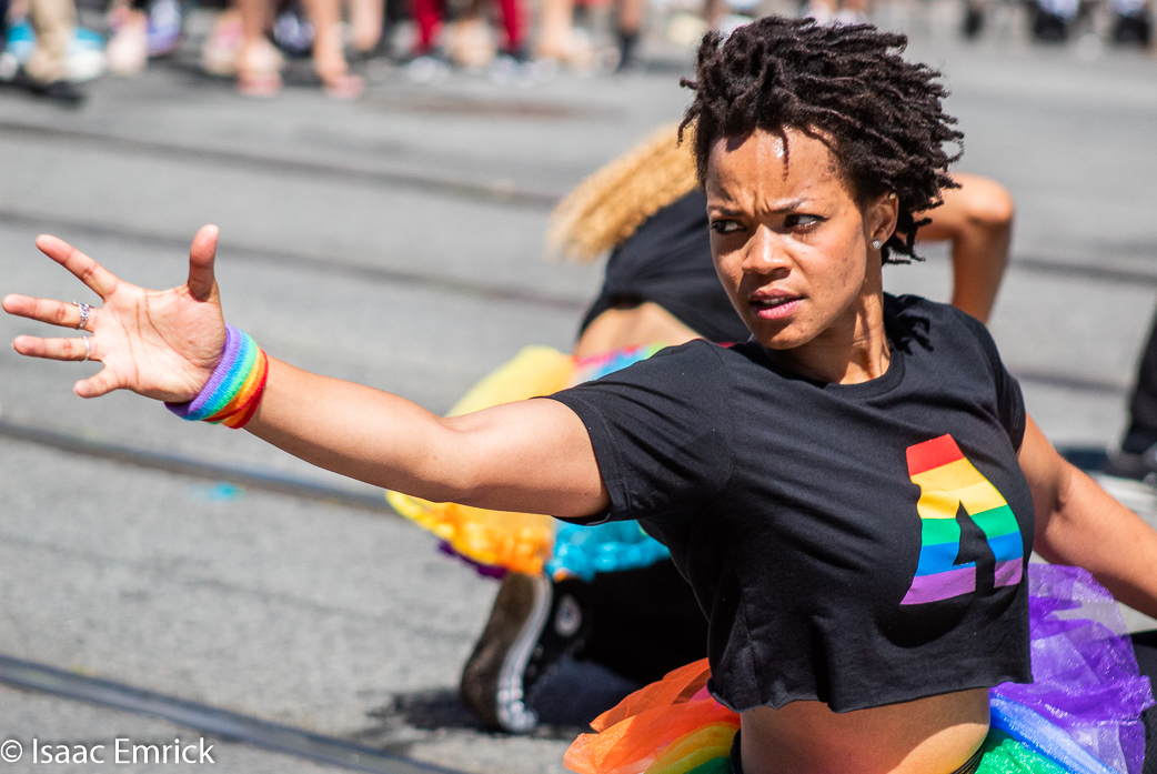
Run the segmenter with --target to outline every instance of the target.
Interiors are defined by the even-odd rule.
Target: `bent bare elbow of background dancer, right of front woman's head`
[[[933,220],[919,238],[952,242],[952,305],[987,323],[1008,266],[1016,207],[996,180],[965,172],[952,178],[960,187],[945,189],[944,204],[916,215]]]

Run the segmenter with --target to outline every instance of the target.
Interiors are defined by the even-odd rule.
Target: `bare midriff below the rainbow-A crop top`
[[[988,690],[839,714],[794,701],[740,722],[744,774],[951,774],[988,734]]]

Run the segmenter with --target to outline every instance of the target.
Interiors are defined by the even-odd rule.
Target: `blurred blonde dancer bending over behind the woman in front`
[[[961,187],[943,192],[920,236],[951,242],[952,303],[986,322],[1008,260],[1014,204],[994,180],[953,177]],[[750,337],[716,275],[707,202],[673,126],[580,184],[555,209],[547,242],[551,252],[578,260],[610,252],[573,353],[523,349],[450,415],[548,395],[665,346]],[[492,727],[532,729],[532,690],[565,656],[648,683],[706,655],[707,622],[690,587],[666,550],[634,522],[576,526],[393,492],[388,497],[441,537],[444,551],[502,578],[462,675],[464,701]]]

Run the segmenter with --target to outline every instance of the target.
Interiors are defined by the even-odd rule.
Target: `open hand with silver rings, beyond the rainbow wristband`
[[[93,308],[84,325],[93,333],[87,345],[75,337],[17,336],[13,348],[30,357],[104,363],[101,373],[76,382],[73,389],[82,398],[132,390],[171,403],[192,400],[224,349],[224,318],[213,277],[216,239],[216,226],[202,227],[189,250],[189,281],[169,290],[146,290],[54,236],[37,237],[40,252],[75,274],[104,304]],[[23,295],[6,296],[3,310],[61,327],[78,329],[82,319],[75,304]]]

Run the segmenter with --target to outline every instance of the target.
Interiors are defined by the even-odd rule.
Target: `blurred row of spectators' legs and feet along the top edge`
[[[985,34],[986,19],[1002,7],[1023,5],[1029,34],[1037,40],[1063,42],[1084,30],[1085,42],[1099,30],[1113,43],[1148,46],[1154,1],[963,0],[961,34],[978,38]],[[690,5],[688,0],[577,0],[577,5],[576,0],[105,0],[105,44],[104,36],[76,25],[74,2],[0,0],[0,83],[78,104],[83,97],[78,84],[105,65],[113,74],[133,75],[150,58],[177,51],[194,2],[218,13],[202,46],[208,73],[235,78],[242,94],[273,96],[281,89],[286,59],[309,57],[326,94],[347,99],[364,90],[363,79],[351,72],[349,58],[390,53],[420,82],[437,80],[455,66],[515,75],[528,67],[547,74],[560,66],[622,71],[639,62],[649,21],[662,19],[669,40],[693,45],[708,28],[728,32],[794,5],[794,0],[690,0]],[[821,23],[858,23],[869,19],[870,2],[799,0],[798,13]],[[591,35],[576,24],[580,14],[610,17],[613,47],[595,46]],[[495,35],[491,15],[501,35]],[[388,38],[397,37],[390,35],[391,25],[405,17],[414,28],[412,43],[389,51]]]

